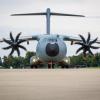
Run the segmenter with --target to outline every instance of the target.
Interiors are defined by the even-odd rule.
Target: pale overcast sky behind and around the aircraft
[[[46,33],[44,16],[10,16],[13,13],[44,12],[50,8],[53,12],[82,14],[89,18],[51,17],[51,33],[78,36],[91,32],[92,38],[100,38],[100,0],[0,0],[0,39],[9,36],[12,31],[14,36],[22,32],[22,36]],[[35,50],[37,42],[26,46],[29,51]],[[0,56],[8,55],[8,51],[1,48],[7,46],[0,44]],[[75,55],[78,46],[67,43],[67,55]],[[94,52],[99,52],[96,50]],[[21,51],[24,56],[25,52]]]

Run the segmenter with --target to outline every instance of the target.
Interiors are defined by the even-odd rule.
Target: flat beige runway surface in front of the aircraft
[[[100,100],[100,69],[0,70],[0,100]]]

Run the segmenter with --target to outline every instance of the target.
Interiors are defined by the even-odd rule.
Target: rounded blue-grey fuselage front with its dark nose
[[[59,62],[67,53],[67,47],[59,35],[42,35],[39,38],[36,54],[43,62]]]

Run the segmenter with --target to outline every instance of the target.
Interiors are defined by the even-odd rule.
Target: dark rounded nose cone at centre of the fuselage
[[[59,54],[59,46],[57,43],[48,43],[46,46],[46,53],[50,57],[57,56]]]

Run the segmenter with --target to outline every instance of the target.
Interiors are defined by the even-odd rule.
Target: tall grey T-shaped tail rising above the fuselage
[[[50,16],[74,16],[74,17],[85,17],[83,15],[75,15],[75,14],[64,14],[64,13],[55,13],[51,12],[50,8],[47,8],[46,12],[41,13],[26,13],[26,14],[12,14],[11,16],[28,16],[28,15],[45,15],[46,16],[46,32],[50,34]]]

